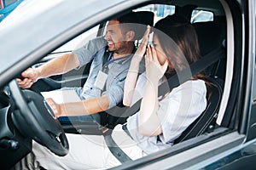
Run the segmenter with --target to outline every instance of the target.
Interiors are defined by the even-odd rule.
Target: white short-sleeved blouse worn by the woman
[[[146,76],[142,74],[137,81],[133,104],[143,96]],[[201,115],[207,107],[207,87],[202,80],[189,80],[177,88],[173,88],[165,99],[159,102],[157,112],[162,133],[158,136],[146,137],[138,132],[140,112],[127,119],[127,128],[132,139],[147,154],[165,149],[173,144],[183,131]]]

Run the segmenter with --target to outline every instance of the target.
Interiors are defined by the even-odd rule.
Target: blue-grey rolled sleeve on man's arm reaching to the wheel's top
[[[73,54],[79,59],[79,67],[77,69],[89,63],[96,53],[105,48],[106,45],[107,42],[104,37],[96,37],[87,42],[82,48],[74,50]]]

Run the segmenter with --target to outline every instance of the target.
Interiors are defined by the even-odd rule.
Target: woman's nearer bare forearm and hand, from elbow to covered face
[[[146,73],[147,83],[143,96],[139,132],[144,136],[156,136],[162,133],[160,118],[157,115],[159,111],[158,84],[161,77],[166,72],[168,65],[167,59],[164,65],[160,65],[154,47],[147,49]]]

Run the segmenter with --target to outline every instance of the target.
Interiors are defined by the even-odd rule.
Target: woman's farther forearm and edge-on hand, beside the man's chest
[[[139,65],[143,59],[143,55],[146,52],[146,47],[148,44],[148,35],[150,33],[150,26],[147,27],[147,30],[144,33],[143,41],[139,48],[137,48],[136,53],[131,59],[131,65],[125,80],[125,89],[124,89],[124,99],[123,104],[131,106],[131,101],[134,93],[134,88],[137,82],[137,75],[139,71]]]

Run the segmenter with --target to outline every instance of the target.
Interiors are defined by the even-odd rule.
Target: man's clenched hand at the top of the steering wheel
[[[20,88],[31,88],[32,84],[34,82],[37,82],[39,77],[38,77],[38,71],[32,68],[28,68],[26,71],[23,71],[21,73],[21,77],[24,77],[23,80],[20,78],[17,78],[17,82],[20,86]]]

